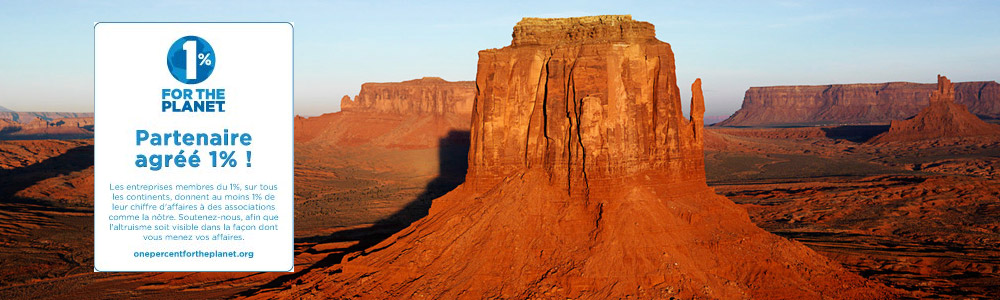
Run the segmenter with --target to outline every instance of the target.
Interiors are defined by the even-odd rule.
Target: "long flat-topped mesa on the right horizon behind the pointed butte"
[[[927,106],[934,84],[911,82],[752,87],[743,107],[719,126],[875,123],[902,120]],[[955,102],[1000,118],[1000,84],[955,84]]]

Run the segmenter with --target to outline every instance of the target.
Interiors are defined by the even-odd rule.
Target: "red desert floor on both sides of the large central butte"
[[[1000,138],[864,143],[887,127],[710,128],[707,178],[744,206],[758,226],[908,296],[998,297]],[[436,186],[444,193],[448,184],[457,184],[430,185],[442,182],[439,172],[451,170],[450,178],[464,174],[464,165],[460,171],[447,167],[455,164],[448,158],[454,153],[436,148],[392,148],[397,153],[389,155],[390,150],[376,151],[379,147],[338,150],[298,143],[298,273],[93,273],[89,204],[74,206],[58,197],[14,200],[24,190],[47,186],[44,182],[89,172],[91,143],[0,141],[6,165],[0,170],[5,188],[0,298],[204,299],[295,285],[304,282],[303,274],[326,269],[426,214],[426,198],[437,197],[426,190]],[[337,154],[342,152],[354,156]],[[436,163],[439,159],[445,161]],[[401,167],[393,172],[396,165]],[[93,193],[86,185],[74,190],[88,199]],[[407,209],[415,199],[427,201]],[[393,215],[396,221],[373,225]]]

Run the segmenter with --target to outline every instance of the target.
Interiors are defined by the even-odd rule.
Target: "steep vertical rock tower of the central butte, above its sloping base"
[[[705,181],[704,103],[693,101],[695,119],[684,118],[670,45],[652,24],[526,18],[510,47],[479,53],[477,74],[473,184],[488,188],[531,168],[576,194],[651,170]]]

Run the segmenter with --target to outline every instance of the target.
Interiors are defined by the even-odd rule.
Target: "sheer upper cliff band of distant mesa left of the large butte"
[[[472,81],[445,81],[424,77],[403,82],[365,83],[351,100],[344,96],[341,111],[363,111],[392,114],[468,113],[476,95]]]

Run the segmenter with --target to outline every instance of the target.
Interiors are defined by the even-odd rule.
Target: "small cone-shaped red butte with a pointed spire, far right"
[[[919,140],[1000,135],[1000,126],[983,122],[965,105],[955,103],[955,85],[938,75],[937,90],[930,93],[930,104],[907,120],[893,120],[889,131],[869,143],[912,142]]]

